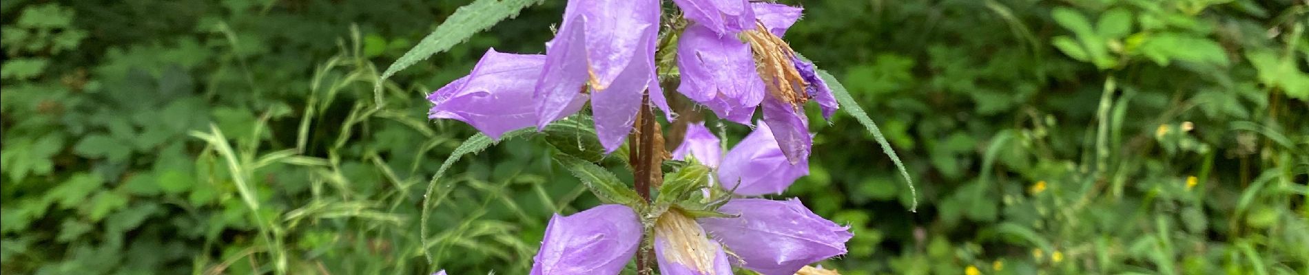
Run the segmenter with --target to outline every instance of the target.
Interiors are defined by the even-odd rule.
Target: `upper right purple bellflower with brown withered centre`
[[[787,160],[797,163],[809,158],[813,139],[808,134],[804,103],[817,99],[823,117],[830,119],[836,100],[817,77],[814,65],[796,56],[780,39],[800,20],[802,9],[749,3],[751,12],[745,13],[734,9],[736,0],[675,3],[695,22],[678,40],[682,74],[678,91],[719,117],[740,124],[749,124],[754,108],[763,106],[763,120],[774,126]],[[753,26],[736,27],[734,23],[742,21]]]

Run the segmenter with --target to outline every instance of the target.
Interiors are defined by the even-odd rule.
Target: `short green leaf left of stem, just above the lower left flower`
[[[559,162],[568,172],[572,172],[577,180],[581,180],[605,203],[636,206],[643,202],[636,190],[627,188],[623,181],[618,180],[605,167],[565,154],[555,154],[555,162]]]

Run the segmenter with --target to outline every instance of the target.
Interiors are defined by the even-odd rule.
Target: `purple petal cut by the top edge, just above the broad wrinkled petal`
[[[719,36],[736,36],[754,29],[754,9],[746,0],[673,0],[686,18],[708,27]]]

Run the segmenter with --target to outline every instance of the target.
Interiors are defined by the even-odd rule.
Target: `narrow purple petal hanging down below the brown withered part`
[[[772,129],[772,137],[791,163],[809,159],[813,137],[809,136],[809,119],[804,109],[796,109],[791,103],[774,96],[763,99],[763,121]]]

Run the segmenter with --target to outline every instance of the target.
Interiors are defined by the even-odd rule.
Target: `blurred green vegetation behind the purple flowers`
[[[810,109],[813,173],[776,197],[851,225],[823,266],[1309,272],[1309,3],[788,3],[787,39],[923,203],[852,117]],[[598,201],[543,141],[504,141],[439,182],[424,248],[427,182],[475,132],[423,96],[488,47],[543,52],[564,1],[372,93],[465,4],[3,1],[0,272],[526,274],[550,215]]]

